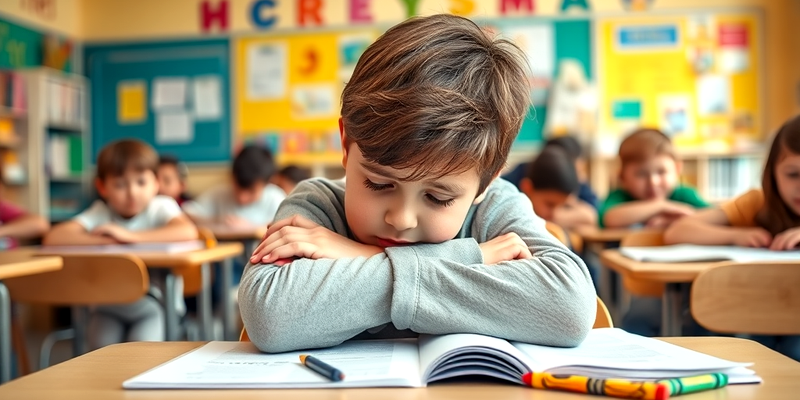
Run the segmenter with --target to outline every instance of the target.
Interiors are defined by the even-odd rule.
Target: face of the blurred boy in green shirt
[[[663,200],[678,184],[678,164],[666,154],[629,163],[622,169],[622,188],[637,200]]]

